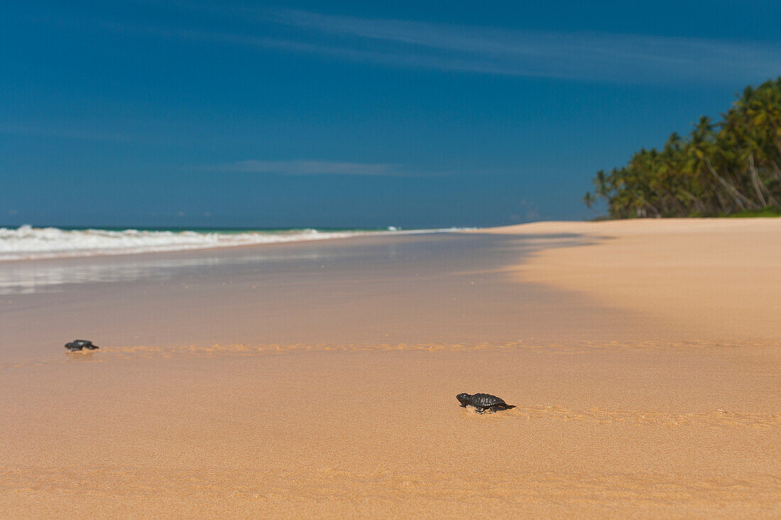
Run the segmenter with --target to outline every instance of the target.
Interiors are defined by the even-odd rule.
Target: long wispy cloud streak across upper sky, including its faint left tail
[[[200,9],[190,7],[181,9]],[[758,81],[781,70],[781,45],[643,34],[541,32],[408,20],[333,16],[291,9],[207,9],[189,27],[99,25],[192,42],[330,56],[414,69],[632,83]],[[202,14],[202,13],[201,13]]]

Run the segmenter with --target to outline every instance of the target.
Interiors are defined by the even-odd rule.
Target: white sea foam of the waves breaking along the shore
[[[36,260],[64,256],[120,255],[248,246],[275,242],[298,242],[348,238],[379,233],[426,233],[447,230],[399,231],[248,231],[241,233],[195,231],[108,231],[103,229],[64,230],[59,228],[0,228],[0,261]]]

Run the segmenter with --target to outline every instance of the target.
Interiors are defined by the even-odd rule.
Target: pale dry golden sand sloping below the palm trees
[[[683,337],[781,339],[781,219],[537,222],[491,233],[593,238],[546,249],[518,278],[658,317]]]

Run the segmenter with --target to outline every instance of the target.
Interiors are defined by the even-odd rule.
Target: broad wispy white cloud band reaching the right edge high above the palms
[[[276,23],[333,37],[325,52],[399,66],[595,81],[770,77],[781,46],[642,34],[540,32],[276,10]]]

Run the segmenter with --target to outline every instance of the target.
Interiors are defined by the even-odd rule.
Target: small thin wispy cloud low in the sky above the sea
[[[415,174],[397,164],[341,163],[326,160],[242,160],[202,167],[204,170],[284,175],[375,175],[407,177]]]

